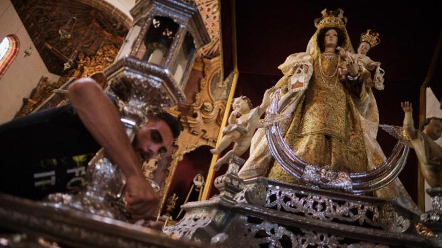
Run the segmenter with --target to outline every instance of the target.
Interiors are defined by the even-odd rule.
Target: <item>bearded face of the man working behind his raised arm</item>
[[[157,154],[171,154],[172,144],[172,131],[162,120],[150,120],[140,127],[135,136],[135,150],[143,160]]]

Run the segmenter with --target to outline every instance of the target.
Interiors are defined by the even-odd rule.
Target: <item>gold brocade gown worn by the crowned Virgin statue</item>
[[[331,165],[338,171],[367,171],[358,109],[349,90],[338,78],[338,56],[321,54],[321,62],[323,75],[319,59],[316,59],[310,85],[296,105],[284,138],[295,154],[307,163]],[[270,167],[268,177],[297,183],[277,162]]]

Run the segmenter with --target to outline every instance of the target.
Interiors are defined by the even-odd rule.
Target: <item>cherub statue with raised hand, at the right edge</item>
[[[435,140],[442,135],[442,119],[426,118],[419,130],[414,128],[411,103],[401,103],[404,116],[404,129],[410,137],[411,145],[420,161],[420,171],[430,187],[442,186],[442,147]]]

